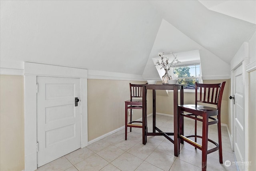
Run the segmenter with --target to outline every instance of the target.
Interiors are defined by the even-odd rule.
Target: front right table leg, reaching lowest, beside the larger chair
[[[178,157],[178,87],[173,90],[174,155]]]

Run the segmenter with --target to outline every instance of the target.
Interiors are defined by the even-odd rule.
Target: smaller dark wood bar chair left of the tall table
[[[132,121],[132,109],[142,109],[142,85],[130,84],[130,99],[125,101],[125,140],[127,140],[127,127],[142,128],[142,121]],[[128,122],[128,109],[130,109],[130,121]]]

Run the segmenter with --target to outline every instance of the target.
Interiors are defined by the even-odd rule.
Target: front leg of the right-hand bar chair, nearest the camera
[[[208,147],[208,114],[204,113],[202,125],[202,171],[206,171]]]

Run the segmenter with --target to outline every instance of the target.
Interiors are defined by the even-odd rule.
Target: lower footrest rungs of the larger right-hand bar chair
[[[184,136],[184,135],[180,135],[180,139],[186,141],[187,143],[189,143],[190,145],[193,145],[194,147],[202,150],[202,145],[198,144],[197,142],[189,139],[190,137],[197,137],[197,138],[201,138],[202,139],[202,136],[200,135],[188,135],[188,136]],[[207,150],[207,154],[209,153],[212,153],[214,151],[217,151],[219,149],[219,145],[218,143],[216,143],[215,141],[213,141],[212,139],[208,139],[208,141],[210,141],[211,143],[213,143],[214,145],[216,145],[216,147],[212,148],[212,149],[209,149]]]

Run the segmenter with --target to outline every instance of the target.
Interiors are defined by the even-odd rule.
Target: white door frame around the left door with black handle
[[[80,78],[81,148],[88,145],[87,79],[88,71],[81,68],[24,62],[24,153],[25,171],[37,169],[37,76]],[[39,85],[40,86],[40,85]],[[39,87],[40,91],[40,87]]]

